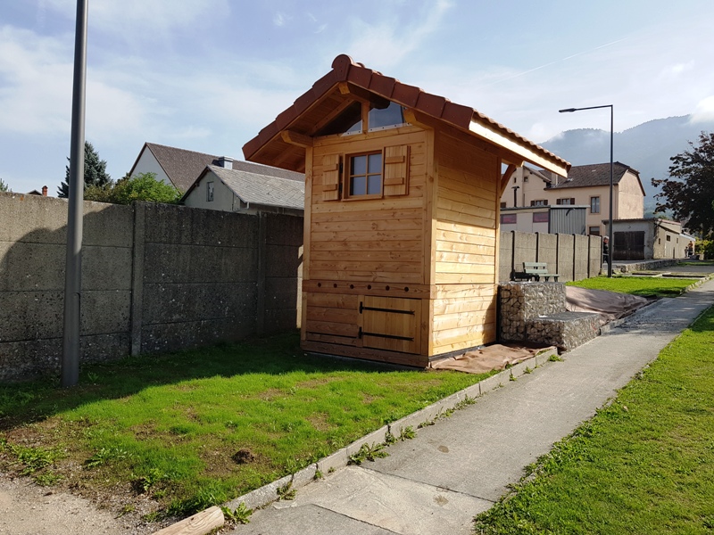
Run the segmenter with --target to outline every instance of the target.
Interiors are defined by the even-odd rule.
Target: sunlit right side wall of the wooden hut
[[[499,159],[468,139],[436,135],[430,355],[495,341]]]

